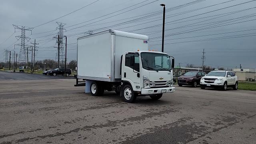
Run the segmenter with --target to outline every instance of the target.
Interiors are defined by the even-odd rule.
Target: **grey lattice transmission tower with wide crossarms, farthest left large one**
[[[18,26],[18,25],[14,25],[13,24],[13,27],[14,27],[14,31],[16,29],[18,30],[21,30],[21,35],[20,36],[16,36],[17,40],[21,40],[21,43],[20,43],[20,54],[19,54],[19,58],[18,58],[18,61],[19,62],[24,62],[24,63],[27,63],[27,58],[26,58],[26,44],[25,44],[25,40],[29,41],[30,38],[26,37],[26,30],[27,31],[30,31],[31,34],[32,34],[32,30],[33,28],[30,28],[30,27],[26,27],[26,26]]]

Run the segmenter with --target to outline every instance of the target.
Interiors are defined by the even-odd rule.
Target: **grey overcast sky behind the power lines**
[[[64,16],[95,1],[96,0],[1,0],[0,61],[4,60],[4,49],[13,51],[14,44],[20,44],[20,40],[17,41],[15,36],[19,36],[21,32],[16,30],[14,33],[12,24],[34,28],[35,26]],[[254,8],[256,7],[256,1],[201,0],[202,2],[200,2],[200,0],[198,0],[198,3],[183,6],[182,8],[174,7],[196,0],[154,1],[155,0],[99,0],[90,6],[59,18],[58,20],[35,27],[32,30],[32,35],[30,35],[31,33],[29,31],[26,31],[26,36],[32,38],[26,43],[30,44],[32,40],[34,41],[34,38],[36,38],[36,42],[39,43],[36,60],[46,58],[55,60],[56,48],[53,47],[57,45],[56,40],[52,38],[58,32],[56,30],[56,27],[58,27],[56,22],[62,22],[66,24],[64,26],[64,28],[66,28],[64,35],[68,36],[68,61],[76,59],[76,44],[72,43],[76,43],[78,37],[84,36],[84,34],[74,34],[88,32],[88,30],[93,30],[93,32],[96,33],[114,29],[145,34],[150,38],[149,49],[160,51],[163,7],[159,6],[159,4],[164,3],[166,4],[166,38],[164,52],[175,57],[176,65],[180,63],[181,66],[186,66],[186,64],[189,63],[201,66],[202,51],[205,49],[205,64],[208,66],[215,68],[218,66],[235,68],[237,66],[239,68],[239,65],[242,64],[242,68],[256,68],[256,8]],[[226,3],[220,4],[222,2]],[[229,6],[232,7],[226,8]],[[116,14],[119,15],[114,16]],[[139,19],[128,24],[123,23],[136,18]],[[113,26],[120,23],[123,24]],[[107,26],[110,27],[104,28]],[[10,38],[8,38],[9,36]],[[19,52],[20,50],[16,47],[15,51]]]

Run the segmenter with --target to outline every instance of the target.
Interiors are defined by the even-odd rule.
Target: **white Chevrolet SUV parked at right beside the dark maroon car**
[[[200,80],[200,86],[205,88],[222,88],[226,90],[232,87],[234,90],[238,88],[238,78],[234,72],[224,70],[213,70]]]

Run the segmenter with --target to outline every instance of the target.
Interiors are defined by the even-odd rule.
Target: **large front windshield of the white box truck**
[[[169,71],[172,69],[170,58],[167,54],[142,52],[142,67],[146,70]]]

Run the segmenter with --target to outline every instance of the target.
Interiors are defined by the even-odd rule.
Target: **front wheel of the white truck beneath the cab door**
[[[136,100],[136,95],[132,89],[132,86],[126,84],[122,88],[122,97],[125,102],[133,103]]]

